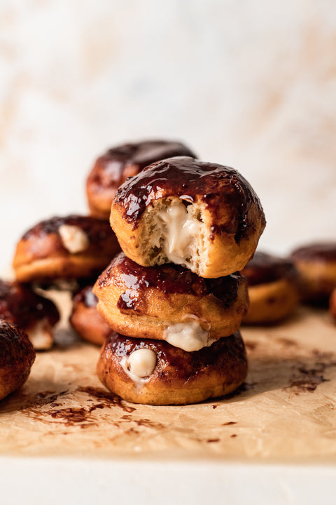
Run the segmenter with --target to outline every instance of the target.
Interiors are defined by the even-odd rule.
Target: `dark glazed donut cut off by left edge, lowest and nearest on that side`
[[[26,382],[35,357],[27,334],[0,320],[0,400]]]

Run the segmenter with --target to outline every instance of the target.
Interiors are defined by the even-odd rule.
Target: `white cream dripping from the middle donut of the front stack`
[[[199,351],[214,343],[214,339],[209,339],[209,332],[197,321],[169,325],[163,336],[169,344],[187,352]]]

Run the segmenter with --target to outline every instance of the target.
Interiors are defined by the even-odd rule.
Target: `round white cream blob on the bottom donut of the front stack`
[[[156,366],[157,357],[153,349],[137,349],[130,356],[123,358],[121,366],[133,382],[148,382]]]

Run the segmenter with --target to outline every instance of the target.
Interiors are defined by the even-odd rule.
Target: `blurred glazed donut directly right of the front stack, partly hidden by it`
[[[257,251],[241,274],[250,299],[243,323],[277,323],[293,314],[299,294],[297,271],[290,260]]]

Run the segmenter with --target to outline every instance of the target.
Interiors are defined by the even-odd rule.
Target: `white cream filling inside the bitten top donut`
[[[160,230],[155,245],[161,247],[167,259],[176,264],[188,263],[192,254],[191,246],[201,231],[202,222],[190,215],[190,208],[183,205],[182,201],[174,201],[155,215]]]

